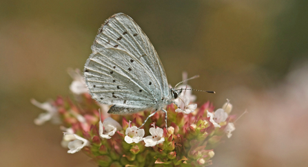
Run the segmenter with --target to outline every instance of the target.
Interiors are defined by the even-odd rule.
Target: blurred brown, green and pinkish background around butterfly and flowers
[[[0,1],[0,166],[94,166],[61,148],[59,126],[33,123],[30,103],[71,96],[68,67],[83,69],[102,23],[131,16],[176,85],[197,102],[249,113],[215,151],[214,166],[307,166],[308,1]]]

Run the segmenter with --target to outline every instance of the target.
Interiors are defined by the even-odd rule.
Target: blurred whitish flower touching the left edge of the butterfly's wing
[[[79,69],[68,69],[68,74],[73,78],[72,84],[70,85],[70,91],[77,95],[82,93],[88,93],[88,87],[85,85],[83,75]]]

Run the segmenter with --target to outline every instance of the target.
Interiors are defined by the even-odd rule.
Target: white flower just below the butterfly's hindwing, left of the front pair
[[[121,129],[122,127],[119,122],[116,122],[116,120],[110,117],[106,118],[103,123],[101,120],[99,121],[99,135],[101,135],[102,138],[110,139],[116,131],[120,131]]]

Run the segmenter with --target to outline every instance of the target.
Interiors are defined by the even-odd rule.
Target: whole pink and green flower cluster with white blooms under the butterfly
[[[189,91],[176,100],[178,107],[167,106],[167,128],[164,113],[158,112],[138,129],[150,111],[109,115],[108,106],[90,97],[80,71],[69,73],[74,79],[73,100],[61,96],[42,104],[31,100],[46,111],[34,123],[61,124],[61,145],[68,153],[83,151],[99,166],[208,166],[213,148],[235,130],[229,101],[216,111],[210,102],[197,108],[191,103],[196,97]]]

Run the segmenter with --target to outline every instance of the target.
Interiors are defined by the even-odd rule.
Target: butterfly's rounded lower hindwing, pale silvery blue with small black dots
[[[131,65],[129,58],[120,49],[101,49],[91,54],[85,63],[85,82],[92,98],[119,107],[151,106],[154,92],[138,82],[140,76],[147,74],[137,70],[140,65]]]

